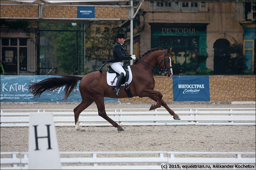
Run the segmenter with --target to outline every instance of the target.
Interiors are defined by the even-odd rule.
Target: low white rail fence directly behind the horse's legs
[[[181,120],[174,120],[165,108],[106,109],[120,126],[129,125],[256,125],[255,108],[172,108]],[[74,126],[73,109],[1,110],[1,127],[29,126],[30,113],[51,112],[55,126]],[[80,126],[112,126],[98,116],[97,109],[86,109],[79,116]]]

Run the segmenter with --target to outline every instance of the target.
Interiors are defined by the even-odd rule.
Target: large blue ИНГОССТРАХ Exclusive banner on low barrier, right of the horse
[[[173,101],[210,101],[209,76],[173,76]]]

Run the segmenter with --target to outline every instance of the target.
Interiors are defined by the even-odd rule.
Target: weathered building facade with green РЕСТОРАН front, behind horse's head
[[[171,46],[181,64],[207,54],[200,67],[221,74],[240,44],[246,72],[255,74],[255,1],[145,1],[139,17],[140,52]]]

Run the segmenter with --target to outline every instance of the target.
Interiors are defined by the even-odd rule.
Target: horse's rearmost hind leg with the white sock
[[[74,116],[75,116],[75,128],[77,131],[85,131],[85,129],[81,128],[79,126],[79,115],[80,113],[86,109],[88,106],[90,106],[93,103],[93,100],[88,98],[86,95],[84,95],[81,92],[82,101],[81,103],[74,108]]]

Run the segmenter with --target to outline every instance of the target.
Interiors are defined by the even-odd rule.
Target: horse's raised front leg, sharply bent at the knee
[[[163,95],[159,92],[159,91],[155,91],[155,90],[151,90],[151,89],[146,89],[143,91],[143,93],[141,95],[138,95],[139,97],[149,97],[153,100],[155,100],[157,103],[156,105],[155,104],[152,104],[150,106],[150,111],[151,110],[154,110],[158,107],[161,107],[161,101],[162,101],[162,97]]]

